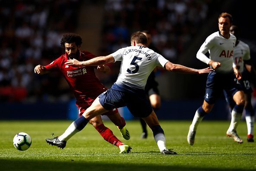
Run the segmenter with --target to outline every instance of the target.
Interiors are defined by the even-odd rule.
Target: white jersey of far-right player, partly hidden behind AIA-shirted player
[[[240,73],[244,71],[244,60],[249,59],[251,59],[251,56],[248,44],[239,40],[234,50],[234,63],[237,65],[237,68],[239,68]]]

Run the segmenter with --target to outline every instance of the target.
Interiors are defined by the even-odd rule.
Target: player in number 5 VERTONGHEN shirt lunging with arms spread
[[[66,62],[66,65],[96,66],[116,61],[122,61],[116,83],[98,96],[84,114],[75,120],[59,138],[61,140],[69,139],[78,131],[81,131],[90,118],[113,108],[127,106],[132,115],[144,118],[153,131],[154,139],[162,154],[177,154],[166,147],[164,131],[159,125],[156,114],[146,97],[144,87],[147,78],[156,66],[165,68],[168,71],[187,74],[204,74],[212,72],[212,69],[208,67],[198,70],[169,62],[160,54],[147,48],[147,37],[140,31],[131,35],[131,47],[125,47],[108,56],[100,56],[83,62],[70,59]],[[130,152],[130,149],[131,147],[129,146],[127,152]]]

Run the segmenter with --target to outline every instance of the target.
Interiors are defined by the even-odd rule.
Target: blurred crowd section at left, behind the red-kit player
[[[59,75],[34,75],[62,53],[60,39],[74,31],[79,0],[0,1],[0,101],[37,100],[59,94]],[[57,79],[56,79],[57,78]]]

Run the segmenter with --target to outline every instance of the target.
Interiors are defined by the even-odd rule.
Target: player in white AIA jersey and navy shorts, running
[[[228,137],[233,137],[235,142],[243,143],[236,131],[244,109],[245,99],[240,84],[234,80],[240,80],[241,74],[233,63],[236,37],[229,33],[232,16],[222,12],[218,20],[219,31],[208,36],[197,52],[197,59],[210,65],[215,71],[209,73],[207,77],[203,105],[197,109],[189,127],[187,142],[190,145],[194,144],[198,124],[207,113],[211,112],[218,93],[221,93],[222,90],[228,96],[233,97],[235,102],[231,113],[231,123],[226,134]],[[207,51],[210,54],[209,58],[205,55]]]

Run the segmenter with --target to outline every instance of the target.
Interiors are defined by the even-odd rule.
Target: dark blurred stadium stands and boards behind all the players
[[[248,2],[248,3],[247,3]],[[206,64],[196,53],[206,37],[218,31],[221,12],[229,12],[250,46],[256,63],[256,26],[250,1],[244,0],[0,0],[0,119],[74,119],[74,97],[59,72],[35,75],[34,66],[46,65],[62,54],[63,33],[83,38],[82,50],[107,55],[129,46],[134,31],[149,30],[153,44],[171,62],[193,68]],[[109,87],[110,75],[97,73]],[[162,107],[159,119],[192,119],[203,101],[206,75],[181,75],[158,70]],[[253,101],[255,97],[253,97]],[[255,106],[255,105],[254,105]],[[223,110],[225,109],[225,110]],[[126,119],[126,109],[121,109]],[[226,120],[222,96],[205,119]]]

